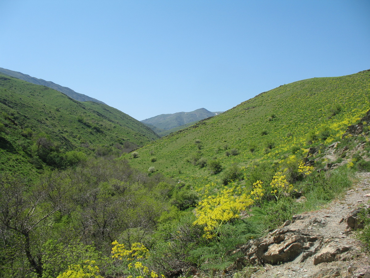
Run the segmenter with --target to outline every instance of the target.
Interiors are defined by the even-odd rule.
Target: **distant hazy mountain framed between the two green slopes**
[[[222,112],[210,112],[205,108],[196,109],[192,112],[178,112],[174,114],[161,114],[149,119],[142,120],[141,122],[147,126],[155,126],[155,128],[162,130],[170,130],[178,126],[184,126],[192,122],[218,115]],[[150,127],[149,126],[149,127]],[[156,131],[159,135],[163,133],[160,130]]]

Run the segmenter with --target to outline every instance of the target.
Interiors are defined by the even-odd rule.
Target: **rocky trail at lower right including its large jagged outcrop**
[[[239,269],[248,263],[263,265],[253,278],[370,278],[370,254],[353,234],[359,225],[356,212],[370,200],[370,173],[357,178],[343,198],[295,215],[292,223],[242,246]]]

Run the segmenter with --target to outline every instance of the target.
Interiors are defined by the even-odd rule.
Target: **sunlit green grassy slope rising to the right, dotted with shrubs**
[[[332,109],[341,111],[334,116]],[[200,140],[201,156],[218,158],[224,168],[237,163],[248,165],[256,159],[279,159],[293,146],[307,147],[307,134],[318,134],[329,128],[331,136],[321,143],[338,140],[347,126],[355,123],[370,108],[370,72],[348,76],[306,79],[283,85],[247,100],[240,105],[203,120],[185,130],[172,133],[139,149],[133,166],[155,169],[192,184],[202,185],[218,179],[205,168],[199,169],[187,160],[198,152],[195,140]],[[271,115],[275,118],[271,119]],[[262,135],[265,130],[268,134]],[[275,144],[265,154],[264,144]],[[319,143],[319,142],[318,142]],[[254,153],[248,150],[255,144]],[[225,147],[240,151],[236,156],[225,156]],[[151,162],[155,157],[156,161]]]

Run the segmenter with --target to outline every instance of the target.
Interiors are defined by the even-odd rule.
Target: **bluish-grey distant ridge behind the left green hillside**
[[[30,83],[33,83],[33,84],[36,84],[36,85],[43,85],[43,86],[49,87],[51,89],[57,90],[58,92],[61,92],[61,93],[64,93],[65,95],[67,95],[67,96],[69,96],[69,97],[71,97],[75,100],[81,101],[81,102],[92,101],[92,102],[105,104],[104,102],[102,102],[100,100],[94,99],[92,97],[89,97],[89,96],[86,96],[86,95],[83,95],[83,94],[80,94],[80,93],[76,93],[74,90],[72,90],[68,87],[63,87],[63,86],[55,84],[54,82],[51,82],[51,81],[45,81],[44,79],[38,79],[38,78],[29,76],[29,75],[25,75],[21,72],[14,72],[13,70],[3,69],[2,67],[0,67],[0,73],[4,73],[5,75],[9,75],[11,77],[16,77],[18,79],[21,79],[21,80],[24,80],[24,81],[27,81],[27,82],[30,82]]]

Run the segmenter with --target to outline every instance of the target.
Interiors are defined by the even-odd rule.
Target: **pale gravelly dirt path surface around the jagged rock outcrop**
[[[302,263],[266,264],[252,277],[370,278],[370,256],[361,251],[360,242],[354,238],[351,229],[347,227],[349,213],[370,201],[370,173],[358,173],[357,177],[358,182],[346,192],[343,198],[334,200],[324,209],[302,214],[300,218],[303,219],[295,220],[287,226],[290,229],[311,230],[324,237],[324,246],[327,244],[348,246],[349,251],[337,256],[334,262],[322,262],[317,265],[313,264],[313,256]],[[367,270],[369,274],[366,274]]]

